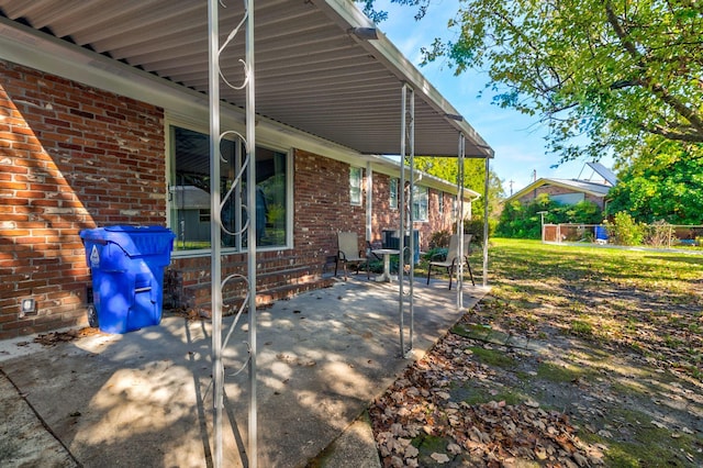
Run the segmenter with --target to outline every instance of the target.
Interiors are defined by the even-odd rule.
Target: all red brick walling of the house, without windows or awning
[[[110,224],[166,225],[167,111],[113,92],[0,60],[0,339],[86,324],[90,271],[80,230]],[[328,285],[325,263],[336,232],[365,238],[366,197],[349,203],[349,163],[291,147],[292,248],[257,253],[259,302]],[[372,238],[399,223],[390,169],[372,172]],[[368,177],[367,170],[364,170]],[[432,178],[431,178],[432,179]],[[324,183],[321,183],[324,181]],[[453,225],[448,182],[428,188],[421,246]],[[366,187],[364,185],[362,187]],[[446,188],[446,192],[443,190]],[[439,213],[438,197],[445,197]],[[359,248],[362,248],[360,245]],[[246,254],[225,257],[223,275],[244,271]],[[210,257],[172,258],[165,289],[171,307],[208,308]],[[236,285],[225,291],[239,297]],[[22,316],[33,298],[37,313]]]

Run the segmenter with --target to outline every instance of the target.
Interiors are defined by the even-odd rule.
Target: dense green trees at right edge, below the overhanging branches
[[[703,145],[649,140],[611,189],[606,214],[621,211],[644,223],[703,224]]]

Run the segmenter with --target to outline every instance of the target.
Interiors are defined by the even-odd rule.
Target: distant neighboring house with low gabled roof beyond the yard
[[[513,200],[528,204],[542,193],[560,204],[577,204],[591,201],[602,209],[605,208],[606,196],[617,183],[615,175],[600,163],[587,163],[593,175],[590,179],[550,179],[542,178],[505,199],[505,203]],[[593,181],[595,178],[596,181]]]

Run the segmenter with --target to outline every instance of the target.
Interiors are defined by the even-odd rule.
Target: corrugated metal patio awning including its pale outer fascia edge
[[[221,10],[221,43],[243,15]],[[415,94],[415,154],[467,157],[493,151],[459,112],[347,0],[259,0],[255,3],[256,111],[269,126],[303,132],[320,145],[358,154],[397,155],[401,88]],[[140,99],[207,121],[208,8],[190,0],[115,2],[0,0],[0,58]],[[221,57],[228,80],[243,78],[244,38]],[[223,88],[223,104],[241,118],[243,90]]]

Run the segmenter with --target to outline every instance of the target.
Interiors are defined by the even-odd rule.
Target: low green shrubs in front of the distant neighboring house
[[[600,224],[603,221],[601,209],[584,200],[573,205],[561,205],[540,193],[535,200],[523,205],[517,200],[505,205],[495,230],[501,237],[540,238],[542,215],[545,211],[545,224],[579,223]]]

